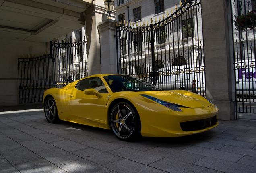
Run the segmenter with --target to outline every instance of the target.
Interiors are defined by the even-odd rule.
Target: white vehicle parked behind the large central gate
[[[157,86],[163,90],[182,89],[204,95],[204,66],[182,65],[158,70]]]

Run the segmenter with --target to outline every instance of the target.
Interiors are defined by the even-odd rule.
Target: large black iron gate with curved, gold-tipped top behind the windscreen
[[[151,24],[119,21],[118,73],[206,97],[201,14],[201,0],[187,0]]]

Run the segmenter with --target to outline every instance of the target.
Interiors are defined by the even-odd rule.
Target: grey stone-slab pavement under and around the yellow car
[[[256,173],[256,121],[220,121],[179,138],[119,141],[109,130],[61,122],[42,110],[0,113],[0,173]]]

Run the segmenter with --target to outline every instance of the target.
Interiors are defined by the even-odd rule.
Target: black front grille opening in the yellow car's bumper
[[[180,123],[180,127],[182,128],[183,131],[196,131],[205,129],[207,127],[211,127],[215,125],[217,122],[217,115],[215,115],[214,117],[208,119],[182,122]]]

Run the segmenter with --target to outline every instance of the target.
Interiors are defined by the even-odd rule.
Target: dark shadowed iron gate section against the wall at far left
[[[19,102],[42,101],[43,92],[52,86],[53,66],[50,54],[18,58]]]

